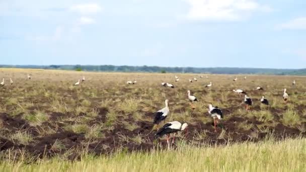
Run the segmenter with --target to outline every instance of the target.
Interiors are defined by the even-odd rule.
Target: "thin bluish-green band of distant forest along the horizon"
[[[159,66],[115,66],[115,65],[0,65],[4,68],[36,68],[101,72],[159,72],[159,73],[215,73],[215,74],[274,74],[306,75],[304,69],[270,69],[239,67],[159,67]]]

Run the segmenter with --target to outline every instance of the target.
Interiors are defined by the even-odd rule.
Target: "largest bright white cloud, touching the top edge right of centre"
[[[184,0],[191,8],[190,20],[240,20],[255,10],[271,10],[253,0]]]

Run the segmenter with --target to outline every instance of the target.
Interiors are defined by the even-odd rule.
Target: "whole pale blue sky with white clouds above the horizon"
[[[0,64],[306,68],[304,0],[0,0]]]

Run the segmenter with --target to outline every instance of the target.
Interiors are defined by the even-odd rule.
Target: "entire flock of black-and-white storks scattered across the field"
[[[200,76],[200,77],[202,78],[203,76]],[[175,76],[175,78],[176,78],[176,80],[175,80],[176,82],[180,80],[180,78],[178,76]],[[208,78],[208,76],[206,76],[206,78]],[[28,74],[28,79],[31,79],[31,75],[30,74]],[[244,79],[247,79],[247,76],[245,76]],[[194,77],[193,79],[189,79],[189,82],[192,82],[193,80],[197,81],[197,78]],[[237,81],[238,78],[236,77],[233,80]],[[85,81],[85,76],[83,76],[82,81]],[[134,81],[130,81],[129,80],[126,83],[127,84],[135,84],[136,82],[137,81],[135,79]],[[12,78],[10,78],[10,84],[13,84],[13,83],[14,82],[13,82]],[[81,79],[79,79],[73,85],[77,86],[80,83],[81,83]],[[2,82],[0,83],[0,86],[3,87],[4,85],[5,85],[5,79],[3,78]],[[173,84],[168,83],[168,82],[162,82],[162,85],[164,87],[170,87],[170,88],[173,88],[173,89],[175,88]],[[295,85],[295,80],[293,80],[292,85]],[[212,86],[212,82],[207,84],[205,86],[205,88],[210,88],[211,86]],[[256,90],[263,90],[263,88],[257,87]],[[253,105],[252,99],[247,96],[247,93],[245,91],[238,89],[238,90],[233,90],[233,92],[245,95],[244,103],[246,105],[246,110],[248,110],[250,108],[250,106]],[[188,93],[188,99],[191,102],[190,106],[191,106],[191,109],[193,111],[195,109],[195,106],[193,105],[193,102],[197,102],[198,100],[197,100],[197,98],[195,96],[191,95],[189,90],[187,91],[187,93]],[[283,100],[285,102],[287,102],[288,97],[289,96],[286,93],[286,89],[284,89]],[[260,102],[262,104],[264,104],[264,105],[269,105],[269,101],[267,99],[265,99],[264,96],[262,96]],[[208,109],[209,109],[208,113],[210,114],[210,116],[214,120],[214,131],[216,132],[216,125],[218,123],[218,120],[223,119],[222,111],[218,107],[216,107],[216,106],[214,107],[211,104],[208,105]],[[161,109],[161,110],[156,112],[153,123],[158,126],[162,121],[165,122],[165,120],[166,120],[167,116],[169,115],[169,113],[170,113],[169,100],[165,100],[165,108],[163,108],[163,109]],[[170,148],[170,145],[169,145],[170,134],[171,133],[175,134],[178,131],[183,131],[183,130],[185,130],[187,128],[187,126],[188,126],[187,123],[180,123],[178,121],[168,122],[168,123],[164,124],[164,126],[158,130],[158,132],[155,134],[155,136],[156,136],[156,138],[158,138],[158,137],[162,137],[162,136],[166,135],[167,136],[167,145],[168,145],[168,148]],[[174,143],[174,139],[175,139],[174,135],[173,135],[172,138],[173,138],[172,143]]]

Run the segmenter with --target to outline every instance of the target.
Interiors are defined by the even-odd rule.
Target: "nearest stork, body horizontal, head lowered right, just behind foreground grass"
[[[155,134],[155,137],[159,138],[167,134],[167,146],[168,150],[170,150],[170,145],[169,145],[170,134],[176,133],[178,131],[183,131],[187,128],[187,126],[188,126],[187,123],[182,124],[178,121],[168,122]],[[175,137],[173,136],[172,143],[174,143],[174,139]]]

